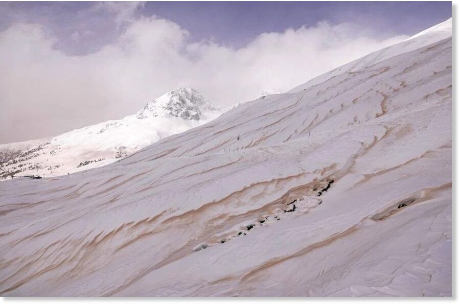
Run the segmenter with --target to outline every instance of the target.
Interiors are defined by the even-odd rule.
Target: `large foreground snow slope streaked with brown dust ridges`
[[[413,39],[108,166],[0,183],[1,294],[451,295],[451,38]]]

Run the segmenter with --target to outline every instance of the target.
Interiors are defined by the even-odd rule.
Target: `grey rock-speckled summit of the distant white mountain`
[[[200,120],[203,104],[209,103],[198,91],[190,87],[180,87],[147,103],[144,109],[137,113],[136,118],[175,116],[184,120]]]

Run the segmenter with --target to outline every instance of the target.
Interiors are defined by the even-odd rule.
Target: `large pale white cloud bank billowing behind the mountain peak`
[[[0,32],[0,143],[119,119],[183,85],[228,106],[264,90],[289,90],[407,38],[382,41],[352,24],[320,22],[263,33],[234,49],[212,40],[191,42],[186,29],[138,16],[138,7],[95,7],[112,10],[124,30],[114,42],[86,55],[56,49],[59,39],[43,25],[15,23]],[[78,41],[82,34],[71,35]]]

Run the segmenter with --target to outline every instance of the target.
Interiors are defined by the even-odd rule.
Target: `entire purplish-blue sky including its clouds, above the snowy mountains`
[[[220,106],[283,92],[450,17],[450,2],[2,2],[0,144],[180,86]]]

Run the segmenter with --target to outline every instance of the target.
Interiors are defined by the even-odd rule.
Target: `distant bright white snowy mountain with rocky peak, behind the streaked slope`
[[[171,134],[200,126],[222,111],[196,90],[182,87],[121,120],[75,129],[51,139],[0,145],[0,179],[52,177],[100,167]]]

